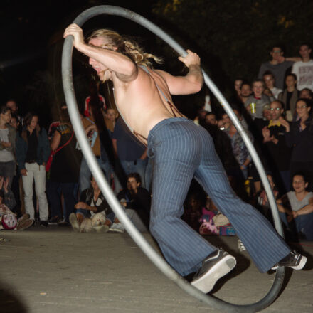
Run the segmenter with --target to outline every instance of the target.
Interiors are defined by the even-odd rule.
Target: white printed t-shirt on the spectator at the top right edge
[[[313,91],[313,60],[294,63],[291,72],[297,75],[297,90],[309,88]]]

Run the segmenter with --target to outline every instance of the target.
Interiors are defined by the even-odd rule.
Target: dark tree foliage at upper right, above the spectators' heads
[[[198,48],[203,67],[225,91],[238,76],[255,78],[272,45],[297,56],[299,44],[311,39],[312,9],[308,0],[159,0],[154,13],[174,37]]]

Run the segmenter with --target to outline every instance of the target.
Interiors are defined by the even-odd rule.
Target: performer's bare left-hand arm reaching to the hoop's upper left
[[[74,37],[74,47],[78,51],[105,65],[112,72],[115,72],[115,75],[120,80],[129,82],[137,78],[137,65],[126,55],[116,52],[116,47],[112,47],[113,50],[110,50],[108,48],[88,45],[84,41],[83,30],[76,24],[70,24],[65,29],[63,37],[66,38],[70,35]]]

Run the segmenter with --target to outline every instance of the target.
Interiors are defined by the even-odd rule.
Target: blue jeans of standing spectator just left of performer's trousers
[[[137,159],[134,161],[121,160],[120,162],[122,165],[122,169],[124,170],[124,174],[128,175],[130,173],[138,173],[140,175],[140,178],[142,179],[141,186],[145,188],[146,184],[145,184],[144,179],[145,179],[145,171],[146,171],[148,159],[144,159],[144,160]],[[119,193],[125,187],[125,186],[122,186],[123,183],[120,181],[116,173],[114,173],[114,184],[115,184],[116,194]]]

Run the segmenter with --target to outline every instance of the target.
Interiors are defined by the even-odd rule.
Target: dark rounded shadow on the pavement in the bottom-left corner
[[[2,313],[28,313],[25,304],[18,299],[18,295],[9,290],[8,286],[0,283],[0,303]]]

